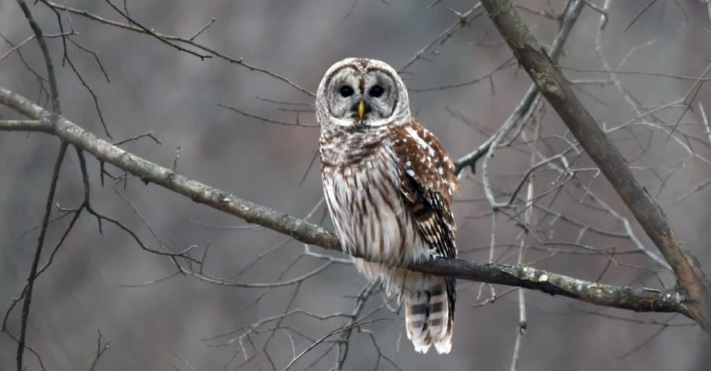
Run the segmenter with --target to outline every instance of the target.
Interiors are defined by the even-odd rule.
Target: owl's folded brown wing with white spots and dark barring
[[[412,120],[395,127],[395,154],[400,160],[400,192],[432,255],[456,257],[451,196],[456,190],[454,163],[434,134]]]

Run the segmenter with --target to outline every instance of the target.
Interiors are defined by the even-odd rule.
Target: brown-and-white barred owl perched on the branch
[[[326,71],[316,94],[326,203],[345,252],[405,307],[415,350],[451,350],[455,279],[409,271],[456,257],[454,163],[410,116],[407,89],[380,60],[348,58]]]

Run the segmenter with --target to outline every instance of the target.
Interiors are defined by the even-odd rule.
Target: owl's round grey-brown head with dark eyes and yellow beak
[[[407,88],[380,60],[346,58],[328,68],[316,93],[316,120],[322,129],[367,130],[410,119]]]

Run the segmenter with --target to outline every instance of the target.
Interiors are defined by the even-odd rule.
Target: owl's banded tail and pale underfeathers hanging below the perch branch
[[[354,259],[355,267],[368,279],[383,278],[388,295],[397,295],[405,306],[407,338],[419,353],[434,345],[437,353],[449,353],[454,325],[456,280],[432,274],[389,268]]]

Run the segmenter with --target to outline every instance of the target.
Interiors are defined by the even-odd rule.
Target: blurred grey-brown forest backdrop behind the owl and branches
[[[600,0],[590,2],[603,6]],[[114,3],[123,9],[121,1]],[[559,26],[550,14],[560,12],[565,3],[516,1],[526,23],[546,45]],[[697,254],[702,267],[708,268],[711,190],[698,185],[711,178],[711,162],[706,159],[711,155],[711,138],[699,104],[711,108],[711,87],[691,77],[705,74],[710,63],[710,14],[700,1],[653,3],[641,13],[648,1],[613,1],[602,33],[601,14],[586,6],[559,61],[567,75],[579,82],[577,95],[606,129],[625,124],[611,131],[611,137],[641,183],[661,203],[682,240]],[[413,114],[442,140],[454,158],[486,141],[530,85],[530,78],[515,61],[507,64],[510,49],[483,9],[475,9],[466,25],[443,42],[438,39],[458,21],[450,9],[464,14],[476,4],[473,1],[443,0],[429,9],[432,0],[126,4],[129,14],[144,26],[185,38],[215,18],[196,42],[232,58],[244,58],[246,63],[285,76],[311,92],[326,68],[337,60],[377,58],[402,70],[419,50],[438,40],[422,58],[408,65],[402,76],[410,89]],[[105,1],[64,1],[60,5],[125,22]],[[31,9],[45,33],[60,32],[48,6],[38,3]],[[318,128],[259,118],[296,122],[298,116],[300,124],[315,125],[312,97],[242,65],[220,58],[201,60],[151,36],[77,14],[60,14],[65,31],[72,28],[79,33],[73,39],[96,50],[107,72],[110,82],[91,54],[75,45],[67,46],[75,68],[97,96],[114,142],[152,131],[160,144],[144,137],[122,144],[122,148],[166,167],[173,165],[179,148],[178,173],[296,217],[311,215],[312,221],[332,229],[328,216],[324,217],[324,205],[319,204],[318,160],[309,170],[318,148]],[[15,1],[0,1],[0,34],[14,44],[32,35]],[[602,45],[609,66],[602,62],[596,41]],[[55,58],[63,115],[106,139],[92,96],[70,65],[62,63],[61,38],[49,38],[48,43]],[[45,102],[37,77],[23,60],[16,53],[4,55],[11,48],[0,41],[0,86]],[[31,68],[44,74],[36,41],[23,45],[21,53]],[[606,72],[609,68],[620,71],[616,79],[624,83],[622,90],[611,83]],[[491,78],[486,77],[492,71],[496,72]],[[461,86],[447,87],[458,84]],[[436,89],[427,90],[433,87]],[[693,94],[689,95],[690,89]],[[634,121],[640,114],[631,107],[630,96],[636,98],[639,112],[653,109],[654,114]],[[14,117],[6,107],[0,114]],[[651,258],[656,249],[634,218],[629,220],[630,230],[625,229],[622,218],[629,217],[628,211],[587,156],[572,149],[572,136],[555,112],[542,104],[537,115],[541,117],[538,149],[545,156],[564,153],[579,171],[575,181],[562,185],[556,184],[560,173],[555,169],[544,166],[536,173],[535,191],[542,197],[537,199],[540,208],[534,209],[535,237],[526,240],[524,262],[609,284],[655,288],[673,284],[672,274]],[[497,200],[507,198],[530,166],[533,121],[511,134],[510,146],[496,151],[488,176]],[[678,128],[672,130],[675,124]],[[38,233],[32,228],[41,222],[57,149],[58,139],[53,136],[0,131],[0,313],[5,313],[26,282]],[[211,276],[245,283],[285,281],[327,262],[306,256],[300,242],[252,227],[156,185],[146,186],[131,176],[116,186],[107,178],[102,188],[99,164],[91,156],[87,161],[97,211],[121,220],[155,249],[159,241],[176,249],[197,245],[199,257],[209,247],[203,268]],[[487,261],[493,243],[494,260],[514,263],[522,238],[519,219],[523,209],[502,211],[493,219],[479,169],[481,163],[476,173],[465,170],[460,178],[461,193],[454,212],[460,227],[457,242],[461,257]],[[120,174],[110,166],[107,170]],[[81,203],[81,181],[77,157],[70,151],[55,197],[61,207]],[[597,200],[582,187],[593,190]],[[496,226],[494,242],[492,221]],[[50,225],[49,246],[67,223],[68,219],[63,219]],[[110,343],[95,370],[282,370],[314,340],[337,330],[348,318],[319,319],[293,313],[283,321],[260,323],[240,336],[245,334],[245,326],[297,308],[322,316],[351,313],[354,297],[366,284],[351,265],[341,263],[330,264],[296,284],[273,288],[210,284],[176,274],[169,259],[141,249],[117,227],[104,223],[102,230],[100,234],[94,217],[82,215],[36,283],[28,344],[41,355],[47,370],[89,370],[97,353],[98,331],[102,344]],[[640,246],[648,251],[639,250]],[[310,251],[330,254],[318,247]],[[170,278],[162,280],[165,277]],[[375,321],[362,327],[373,337],[354,331],[343,367],[371,369],[378,362],[379,369],[392,370],[392,360],[403,370],[508,369],[518,328],[515,291],[481,305],[491,299],[488,285],[460,281],[458,289],[451,354],[416,354],[404,336],[402,318],[384,307],[382,296],[375,294],[360,311],[361,316],[369,313],[367,320]],[[501,295],[509,288],[494,289]],[[707,367],[702,362],[705,335],[683,316],[595,307],[537,291],[527,291],[526,296],[528,330],[520,353],[521,370]],[[15,308],[8,318],[9,330],[17,333],[19,323],[20,311]],[[277,330],[269,330],[275,326]],[[230,330],[236,331],[228,333]],[[218,336],[223,333],[228,334]],[[342,333],[327,338],[289,369],[333,367],[333,340]],[[264,345],[267,339],[269,344]],[[14,369],[15,352],[16,343],[0,334],[0,370]],[[379,352],[389,360],[379,357]],[[40,369],[33,355],[26,353],[25,360],[28,370]]]

